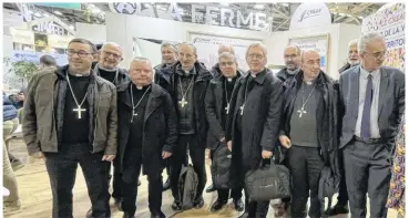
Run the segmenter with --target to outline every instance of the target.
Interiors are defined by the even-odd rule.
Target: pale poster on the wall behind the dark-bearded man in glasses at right
[[[300,37],[289,39],[288,44],[296,44],[301,51],[315,50],[319,53],[320,68],[328,73],[328,38],[329,34],[319,34],[310,37]]]

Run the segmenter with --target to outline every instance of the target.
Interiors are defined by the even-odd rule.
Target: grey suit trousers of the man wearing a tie
[[[386,218],[385,207],[391,176],[391,153],[386,144],[350,142],[344,148],[344,166],[351,217],[367,214],[367,193],[370,217]]]

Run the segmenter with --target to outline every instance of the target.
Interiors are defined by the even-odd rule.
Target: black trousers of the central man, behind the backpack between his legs
[[[182,165],[188,164],[187,148],[192,158],[192,164],[195,173],[197,174],[197,193],[195,200],[198,200],[203,196],[203,190],[206,185],[206,169],[205,169],[205,147],[197,146],[196,135],[180,135],[177,141],[177,147],[174,148],[172,158],[172,174],[171,174],[171,188],[172,195],[176,201],[180,201],[177,193],[177,181],[181,174]]]

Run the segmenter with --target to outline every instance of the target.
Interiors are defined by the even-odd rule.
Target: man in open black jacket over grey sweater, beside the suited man
[[[285,83],[279,141],[288,148],[286,160],[293,176],[290,214],[297,218],[307,217],[308,197],[309,217],[321,217],[320,172],[338,158],[337,91],[319,63],[318,52],[304,52],[301,71]]]

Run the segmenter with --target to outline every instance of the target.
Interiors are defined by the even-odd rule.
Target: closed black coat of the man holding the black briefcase
[[[245,170],[257,168],[262,162],[262,152],[274,150],[282,116],[283,84],[270,70],[265,69],[257,74],[256,84],[247,94],[247,103],[242,117],[246,125],[242,126],[242,141],[237,142],[239,137],[235,135],[236,117],[239,115],[242,106],[238,97],[246,86],[245,79],[242,79],[233,91],[232,106],[227,118],[226,138],[227,142],[233,141],[233,176],[239,176],[244,172],[238,166],[244,165]],[[238,147],[238,145],[242,146]],[[242,154],[243,157],[247,158],[242,159]]]

